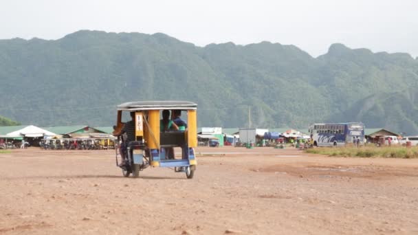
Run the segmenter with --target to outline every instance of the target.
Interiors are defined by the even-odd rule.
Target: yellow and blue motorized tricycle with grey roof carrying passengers
[[[160,114],[164,110],[181,110],[187,113],[188,128],[184,131],[161,131]],[[192,179],[196,170],[194,148],[197,146],[197,104],[188,101],[138,101],[118,105],[118,120],[114,126],[115,133],[123,127],[122,112],[134,112],[135,141],[124,143],[126,150],[122,153],[126,163],[118,164],[116,148],[116,165],[122,168],[124,177],[139,177],[140,171],[148,166],[174,168],[175,172],[185,172]],[[185,115],[186,116],[186,115]],[[175,159],[173,148],[181,148],[181,159]]]

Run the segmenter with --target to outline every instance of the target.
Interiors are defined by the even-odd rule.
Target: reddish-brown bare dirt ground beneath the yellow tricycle
[[[418,234],[418,159],[197,148],[193,179],[113,150],[0,154],[0,234]]]

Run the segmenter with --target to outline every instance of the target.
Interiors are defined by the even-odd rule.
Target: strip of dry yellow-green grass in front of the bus
[[[305,153],[328,155],[330,157],[391,157],[391,158],[418,158],[418,147],[406,148],[404,146],[365,146],[355,147],[320,147],[309,148]]]

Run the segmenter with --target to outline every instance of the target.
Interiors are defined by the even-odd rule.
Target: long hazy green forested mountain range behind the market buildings
[[[248,126],[250,107],[254,127],[362,121],[418,130],[409,96],[397,99],[398,112],[360,107],[417,88],[418,60],[341,44],[313,58],[278,43],[196,47],[165,34],[79,31],[56,41],[1,40],[0,81],[0,98],[9,100],[1,114],[40,126],[110,126],[122,102],[190,100],[199,126]]]

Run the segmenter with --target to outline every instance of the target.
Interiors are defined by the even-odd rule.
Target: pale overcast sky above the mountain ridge
[[[181,41],[292,44],[312,56],[332,43],[418,56],[417,0],[1,0],[0,38],[58,39],[78,30],[162,32]]]

